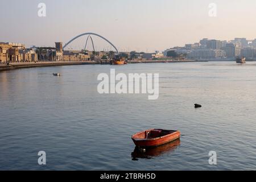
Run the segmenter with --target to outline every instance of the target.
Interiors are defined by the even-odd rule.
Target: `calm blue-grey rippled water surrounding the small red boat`
[[[98,73],[160,73],[159,99],[97,92]],[[61,72],[61,77],[51,73]],[[74,65],[0,72],[0,169],[256,169],[256,64]],[[193,104],[203,105],[195,109]],[[131,135],[180,141],[134,152]],[[47,165],[38,165],[38,151]],[[217,166],[208,152],[217,152]]]

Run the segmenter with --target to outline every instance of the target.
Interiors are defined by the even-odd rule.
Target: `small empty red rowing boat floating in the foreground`
[[[180,138],[176,130],[150,129],[134,134],[131,139],[138,147],[156,147]]]

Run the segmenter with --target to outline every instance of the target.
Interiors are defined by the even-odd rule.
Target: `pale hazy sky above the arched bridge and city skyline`
[[[38,4],[46,4],[46,17]],[[216,5],[216,16],[210,3]],[[153,52],[200,39],[256,38],[255,0],[1,0],[0,42],[64,44],[85,32],[119,51]],[[82,49],[86,37],[68,49]],[[96,51],[112,49],[94,37]],[[89,43],[88,49],[92,49]]]

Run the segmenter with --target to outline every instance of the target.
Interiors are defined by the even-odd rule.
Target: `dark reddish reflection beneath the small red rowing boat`
[[[132,160],[141,159],[152,159],[154,157],[158,157],[167,152],[174,151],[180,145],[180,139],[177,139],[173,142],[163,144],[162,146],[154,147],[154,148],[146,148],[143,150],[142,148],[135,147],[134,151],[131,152]]]

